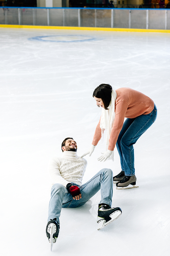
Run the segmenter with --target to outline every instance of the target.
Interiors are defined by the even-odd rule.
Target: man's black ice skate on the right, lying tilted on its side
[[[100,205],[97,217],[98,230],[112,223],[115,219],[119,218],[121,214],[122,210],[119,207],[111,208],[106,204]]]

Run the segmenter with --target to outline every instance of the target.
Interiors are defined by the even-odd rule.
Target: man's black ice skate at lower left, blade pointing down
[[[60,230],[60,225],[58,224],[58,222],[55,219],[50,220],[47,223],[47,227],[46,227],[46,235],[48,237],[48,241],[51,243],[51,251],[52,251],[52,247],[53,244],[56,242],[57,237],[58,237],[58,233]]]

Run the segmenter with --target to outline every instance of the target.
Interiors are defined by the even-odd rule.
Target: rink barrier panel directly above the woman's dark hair
[[[96,27],[111,27],[111,10],[96,10],[97,24]]]

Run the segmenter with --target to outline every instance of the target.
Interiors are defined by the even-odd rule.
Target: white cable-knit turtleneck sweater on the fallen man
[[[60,183],[64,187],[68,183],[82,185],[87,161],[77,156],[77,152],[64,151],[63,157],[54,157],[49,162],[52,183]]]

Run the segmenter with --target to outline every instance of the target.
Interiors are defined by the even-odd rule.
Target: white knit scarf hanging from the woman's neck
[[[102,140],[106,143],[106,148],[108,148],[109,138],[111,135],[111,130],[113,127],[113,122],[115,119],[115,100],[117,93],[115,90],[112,90],[111,103],[108,106],[108,109],[102,108],[102,114],[100,119],[100,128],[102,130]],[[107,160],[114,161],[114,151]]]

